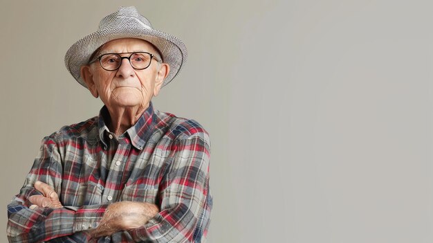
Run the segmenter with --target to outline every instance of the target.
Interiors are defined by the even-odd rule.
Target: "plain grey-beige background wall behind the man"
[[[433,242],[431,1],[3,2],[0,228],[41,139],[98,114],[63,58],[120,4],[189,50],[154,105],[210,132],[209,242]]]

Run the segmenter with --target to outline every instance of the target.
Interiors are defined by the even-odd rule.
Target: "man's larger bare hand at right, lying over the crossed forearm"
[[[119,201],[107,208],[99,226],[90,230],[89,233],[92,237],[101,237],[118,231],[139,228],[158,213],[159,209],[155,204]]]

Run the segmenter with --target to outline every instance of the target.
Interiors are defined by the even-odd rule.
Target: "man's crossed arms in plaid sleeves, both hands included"
[[[176,170],[161,181],[158,206],[133,201],[62,205],[57,197],[64,193],[58,146],[55,137],[44,139],[25,186],[8,205],[10,242],[91,242],[105,235],[131,242],[196,242],[206,233],[208,219],[199,225],[209,217],[212,204],[206,134],[182,139],[169,152],[171,168]]]

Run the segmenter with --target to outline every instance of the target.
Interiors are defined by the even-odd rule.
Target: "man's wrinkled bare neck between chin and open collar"
[[[129,127],[137,123],[147,107],[149,104],[145,107],[107,107],[110,115],[107,127],[116,136],[122,135]]]

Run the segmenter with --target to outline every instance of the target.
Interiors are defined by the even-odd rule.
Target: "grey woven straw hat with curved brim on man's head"
[[[80,67],[89,63],[91,55],[103,44],[121,38],[138,38],[150,42],[160,51],[163,62],[169,64],[169,74],[163,82],[168,84],[181,70],[187,60],[187,48],[180,39],[154,29],[149,20],[140,15],[135,7],[120,7],[117,12],[104,17],[95,33],[75,42],[66,52],[64,64],[82,86]]]

